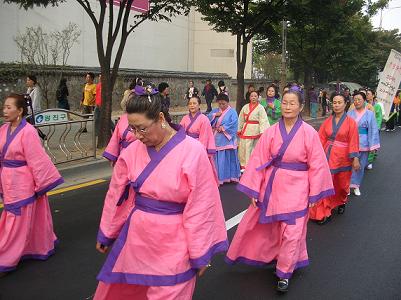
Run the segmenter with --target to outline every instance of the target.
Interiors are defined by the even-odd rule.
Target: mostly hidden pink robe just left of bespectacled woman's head
[[[110,161],[116,162],[117,158],[121,154],[121,151],[127,148],[128,145],[135,140],[135,135],[129,131],[128,114],[125,113],[120,117],[109,144],[103,152],[103,157]]]

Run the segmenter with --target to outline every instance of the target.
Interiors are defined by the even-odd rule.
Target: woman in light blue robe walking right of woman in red
[[[358,124],[359,132],[359,163],[360,169],[352,172],[351,188],[354,189],[356,196],[361,195],[360,186],[368,165],[369,152],[380,148],[379,130],[372,111],[365,108],[366,95],[362,92],[354,94],[355,109],[348,112],[348,116],[353,118]]]

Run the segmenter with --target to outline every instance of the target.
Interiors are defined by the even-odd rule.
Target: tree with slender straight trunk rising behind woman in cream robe
[[[217,32],[230,32],[237,38],[237,110],[244,104],[244,71],[248,44],[256,34],[277,35],[274,25],[285,11],[286,1],[197,0],[197,10]]]

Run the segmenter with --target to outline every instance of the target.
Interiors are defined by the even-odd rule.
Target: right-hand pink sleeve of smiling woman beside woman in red
[[[323,198],[334,195],[334,188],[319,135],[312,130],[310,132],[308,130],[305,133],[305,146],[307,147],[309,166],[309,202],[315,203]]]

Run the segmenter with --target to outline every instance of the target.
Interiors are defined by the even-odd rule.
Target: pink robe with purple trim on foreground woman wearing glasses
[[[212,176],[204,147],[183,128],[159,152],[139,140],[122,152],[97,237],[114,245],[95,299],[128,291],[142,295],[135,299],[191,299],[197,270],[228,248]]]

